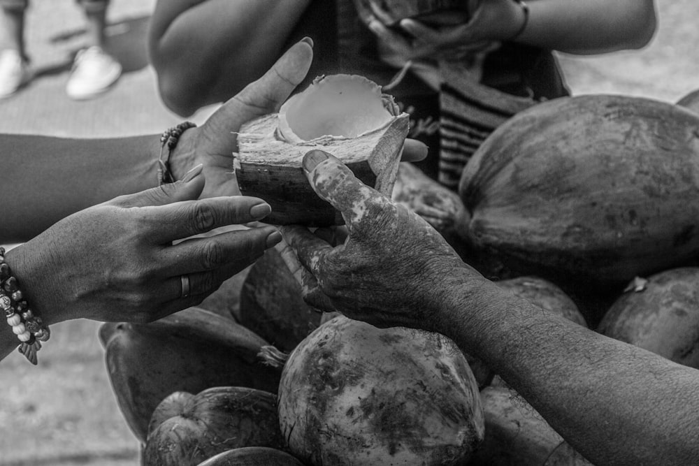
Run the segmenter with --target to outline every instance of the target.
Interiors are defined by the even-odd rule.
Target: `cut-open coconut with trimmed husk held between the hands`
[[[329,75],[291,96],[278,114],[244,124],[233,167],[240,191],[272,206],[266,222],[342,224],[340,213],[310,187],[303,156],[329,152],[391,196],[406,136],[408,114],[379,85],[358,75]]]

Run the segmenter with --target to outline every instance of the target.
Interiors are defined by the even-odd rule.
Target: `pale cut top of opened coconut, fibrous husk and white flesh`
[[[234,168],[301,167],[314,148],[345,163],[386,161],[398,154],[407,133],[408,114],[399,112],[379,85],[359,75],[329,75],[292,96],[278,114],[244,124]]]

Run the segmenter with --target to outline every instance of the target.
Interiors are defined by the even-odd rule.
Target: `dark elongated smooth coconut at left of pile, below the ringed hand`
[[[196,307],[153,323],[105,323],[100,339],[117,404],[140,442],[155,407],[175,391],[247,386],[275,393],[278,388],[278,371],[257,358],[268,342]]]

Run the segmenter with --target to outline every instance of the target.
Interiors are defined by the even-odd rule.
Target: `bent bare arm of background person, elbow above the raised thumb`
[[[229,99],[279,57],[309,3],[159,1],[149,49],[165,103],[189,115]]]

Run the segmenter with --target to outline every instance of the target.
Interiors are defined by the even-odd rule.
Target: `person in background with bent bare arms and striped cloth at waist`
[[[225,101],[308,35],[318,44],[310,78],[349,73],[384,85],[412,117],[409,137],[430,147],[419,168],[455,189],[497,126],[569,94],[552,51],[637,49],[656,29],[653,0],[463,0],[399,22],[382,10],[391,3],[158,1],[148,44],[161,97],[180,115]]]

